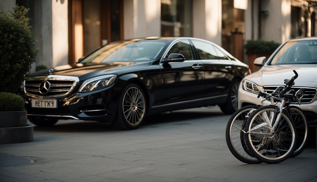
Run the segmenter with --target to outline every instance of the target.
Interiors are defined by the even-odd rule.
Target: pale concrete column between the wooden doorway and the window
[[[160,0],[124,0],[124,39],[161,35]]]

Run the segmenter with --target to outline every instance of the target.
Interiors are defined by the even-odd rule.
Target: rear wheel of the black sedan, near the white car
[[[228,99],[225,104],[220,105],[220,109],[225,114],[232,114],[238,109],[238,91],[240,80],[235,79],[231,82]]]

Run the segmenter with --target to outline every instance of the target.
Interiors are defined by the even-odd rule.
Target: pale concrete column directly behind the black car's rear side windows
[[[206,39],[221,46],[221,0],[193,2],[193,37]]]

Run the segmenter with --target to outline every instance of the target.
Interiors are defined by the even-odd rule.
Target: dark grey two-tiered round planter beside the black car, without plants
[[[33,125],[27,124],[27,111],[0,112],[0,144],[33,141]]]

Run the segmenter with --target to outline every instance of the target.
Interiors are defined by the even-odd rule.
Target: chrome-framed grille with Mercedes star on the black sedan
[[[68,94],[78,82],[74,76],[30,77],[24,82],[24,92],[29,96],[52,98]]]

